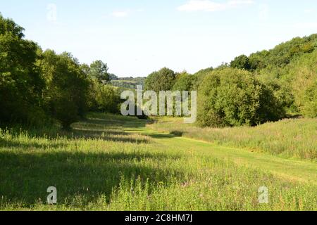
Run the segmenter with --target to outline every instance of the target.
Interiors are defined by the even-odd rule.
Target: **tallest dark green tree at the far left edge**
[[[35,66],[39,47],[23,28],[0,15],[0,123],[40,123],[44,81]]]

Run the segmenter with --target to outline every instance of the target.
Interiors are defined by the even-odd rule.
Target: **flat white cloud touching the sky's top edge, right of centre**
[[[179,6],[178,11],[223,11],[237,6],[254,4],[253,0],[231,0],[224,3],[217,3],[209,0],[190,0],[186,4]]]

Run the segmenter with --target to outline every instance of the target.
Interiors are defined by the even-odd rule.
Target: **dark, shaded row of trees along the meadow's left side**
[[[120,90],[109,84],[101,60],[82,65],[26,40],[23,27],[0,15],[0,124],[43,124],[63,128],[89,110],[118,113]]]

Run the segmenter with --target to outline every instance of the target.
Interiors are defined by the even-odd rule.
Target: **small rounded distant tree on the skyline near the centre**
[[[173,70],[163,68],[158,72],[152,72],[145,80],[144,88],[150,91],[170,91],[175,84],[176,75]]]

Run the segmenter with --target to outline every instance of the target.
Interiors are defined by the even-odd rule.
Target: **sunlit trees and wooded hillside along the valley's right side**
[[[197,90],[202,127],[254,126],[289,115],[317,117],[317,34],[194,75],[163,68],[147,77],[145,89]]]

